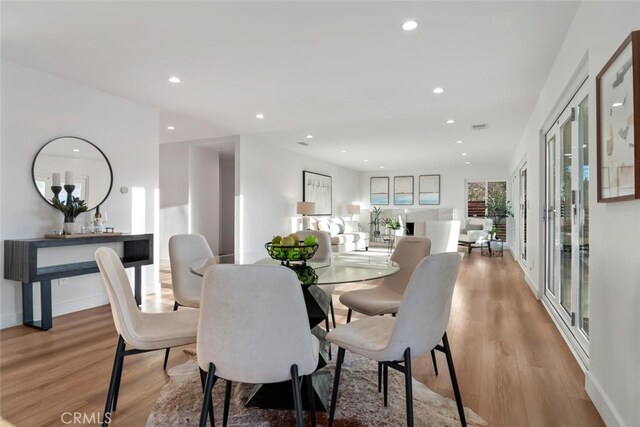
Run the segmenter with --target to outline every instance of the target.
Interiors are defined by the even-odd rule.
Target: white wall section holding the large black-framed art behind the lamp
[[[332,177],[334,215],[360,198],[356,171],[270,146],[260,135],[243,135],[236,151],[236,253],[264,250],[276,234],[289,232],[302,200],[302,171]]]

